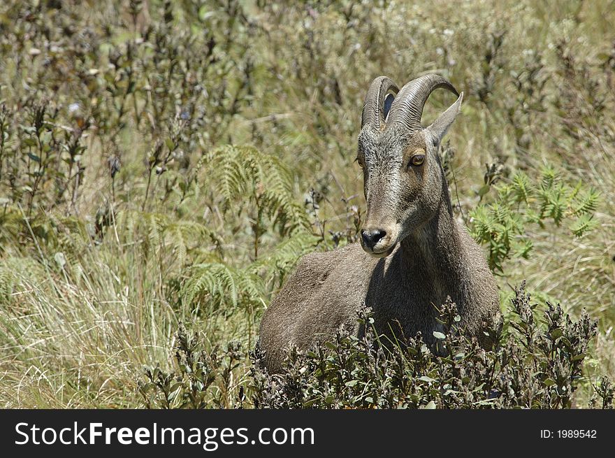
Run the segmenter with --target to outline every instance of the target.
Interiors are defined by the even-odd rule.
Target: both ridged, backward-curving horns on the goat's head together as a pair
[[[440,87],[459,95],[449,80],[440,75],[420,76],[401,90],[391,78],[379,76],[372,81],[363,104],[361,127],[371,124],[376,129],[384,129],[385,124],[399,124],[411,132],[422,129],[425,102]]]

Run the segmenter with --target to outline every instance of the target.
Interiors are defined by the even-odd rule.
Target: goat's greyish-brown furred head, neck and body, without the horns
[[[259,345],[270,371],[280,371],[292,346],[310,348],[342,325],[359,333],[356,310],[363,304],[372,308],[379,333],[402,338],[421,331],[428,343],[441,329],[436,307],[447,296],[470,335],[480,338],[484,320],[498,315],[495,280],[478,245],[456,223],[437,155],[460,106],[461,96],[419,131],[361,129],[358,159],[368,207],[363,230],[386,236],[373,247],[355,243],[301,259],[261,321]],[[417,152],[424,163],[409,166]]]

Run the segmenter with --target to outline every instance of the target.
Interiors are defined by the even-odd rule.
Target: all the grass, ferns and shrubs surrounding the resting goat
[[[613,22],[609,1],[4,2],[1,405],[612,406]],[[452,303],[440,357],[377,345],[358,310],[364,338],[267,374],[271,297],[356,241],[370,81],[426,71],[465,92],[441,153],[498,275],[494,348]]]

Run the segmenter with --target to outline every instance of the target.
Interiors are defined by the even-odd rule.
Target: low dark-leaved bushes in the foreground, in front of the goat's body
[[[456,305],[440,310],[444,333],[438,356],[420,334],[404,345],[383,345],[369,310],[358,310],[366,333],[340,331],[310,351],[290,350],[284,370],[269,375],[260,350],[248,373],[230,375],[245,357],[235,344],[206,352],[196,336],[177,334],[175,369],[146,368],[141,392],[148,407],[203,408],[571,408],[597,323],[585,312],[572,320],[547,303],[537,310],[515,290],[512,317],[486,329],[493,348],[484,350],[456,328]],[[437,335],[436,335],[437,334]],[[441,350],[444,350],[443,352]],[[591,406],[613,407],[613,385],[602,378]]]

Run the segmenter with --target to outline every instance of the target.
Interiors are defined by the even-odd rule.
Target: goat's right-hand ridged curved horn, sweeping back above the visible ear
[[[409,131],[421,130],[421,115],[429,94],[444,87],[458,96],[453,85],[440,75],[425,75],[410,81],[401,88],[391,106],[390,122],[403,125]]]

